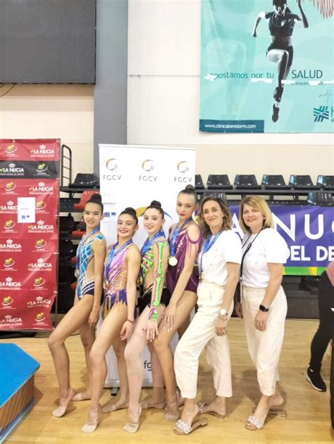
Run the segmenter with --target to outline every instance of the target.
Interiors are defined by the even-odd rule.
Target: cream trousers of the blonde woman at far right
[[[249,355],[257,370],[257,380],[263,395],[275,393],[276,381],[279,381],[278,362],[284,338],[285,317],[287,315],[287,300],[283,288],[278,293],[268,312],[266,330],[255,329],[254,319],[259,311],[266,288],[250,288],[243,286],[242,314]]]

